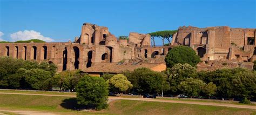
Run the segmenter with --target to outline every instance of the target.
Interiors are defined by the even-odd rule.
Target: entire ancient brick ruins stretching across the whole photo
[[[201,29],[183,26],[173,35],[170,46],[152,47],[149,34],[131,32],[129,39],[117,39],[104,26],[84,23],[80,37],[76,37],[74,42],[2,43],[0,56],[55,63],[58,71],[116,72],[110,67],[117,70],[119,67],[128,70],[149,67],[161,71],[166,67],[164,58],[167,52],[173,46],[187,45],[204,61],[199,68],[207,68],[213,66],[214,63],[205,64],[211,60],[241,63],[256,60],[255,32],[255,29],[228,26]]]

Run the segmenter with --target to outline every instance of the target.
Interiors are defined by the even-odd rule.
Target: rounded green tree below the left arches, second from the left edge
[[[26,70],[23,75],[26,82],[36,90],[49,90],[52,88],[51,83],[51,72],[43,69],[31,69]]]

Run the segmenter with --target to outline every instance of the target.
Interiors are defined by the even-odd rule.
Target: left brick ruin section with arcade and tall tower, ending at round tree
[[[100,63],[163,65],[164,55],[170,47],[152,48],[150,42],[149,34],[131,32],[129,40],[117,39],[104,26],[84,23],[80,37],[76,37],[74,42],[3,43],[0,44],[2,49],[0,56],[55,63],[58,71],[75,69],[86,71],[89,67]]]

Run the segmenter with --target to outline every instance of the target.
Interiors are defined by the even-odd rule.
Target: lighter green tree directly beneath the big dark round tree
[[[197,76],[197,69],[190,64],[176,64],[172,68],[167,68],[166,75],[169,77],[171,91],[176,93],[181,82],[186,78],[195,78]]]

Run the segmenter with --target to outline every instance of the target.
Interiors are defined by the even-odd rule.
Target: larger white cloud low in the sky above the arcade
[[[13,41],[30,40],[30,39],[40,39],[40,40],[44,40],[45,42],[54,41],[52,38],[44,37],[43,35],[41,35],[40,32],[36,32],[34,30],[17,31],[15,33],[12,33],[10,36]]]

